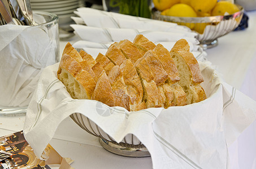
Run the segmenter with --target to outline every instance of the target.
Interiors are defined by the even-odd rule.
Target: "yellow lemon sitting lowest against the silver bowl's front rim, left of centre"
[[[178,3],[173,5],[169,10],[166,11],[166,15],[168,16],[178,16],[178,17],[197,17],[196,12],[192,7],[186,5],[184,3]],[[193,23],[177,23],[179,25],[186,25],[190,29],[194,28]]]

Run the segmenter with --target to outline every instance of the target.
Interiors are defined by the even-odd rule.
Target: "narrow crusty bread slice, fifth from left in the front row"
[[[134,64],[137,74],[140,77],[141,84],[144,90],[144,96],[142,101],[146,103],[147,108],[153,108],[158,106],[158,88],[154,81],[154,76],[147,64],[144,57],[141,57]]]

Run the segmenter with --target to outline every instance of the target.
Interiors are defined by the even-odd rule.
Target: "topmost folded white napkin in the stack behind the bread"
[[[84,24],[98,28],[147,29],[177,33],[190,32],[190,34],[196,35],[196,33],[188,31],[189,28],[186,26],[179,26],[176,23],[167,23],[159,20],[145,19],[143,17],[116,14],[114,12],[100,11],[91,8],[78,8],[74,13],[81,17]],[[81,23],[81,20],[78,20],[77,18],[73,19],[77,23]]]

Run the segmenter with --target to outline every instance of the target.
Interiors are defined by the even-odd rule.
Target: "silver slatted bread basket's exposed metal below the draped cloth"
[[[125,157],[149,157],[150,153],[146,147],[137,141],[136,136],[127,135],[124,137],[124,142],[116,143],[109,135],[101,130],[94,122],[80,113],[73,113],[70,115],[73,121],[79,125],[83,130],[91,135],[99,137],[99,143],[103,148],[111,153],[123,155]],[[127,140],[131,140],[132,144],[129,144]],[[136,140],[136,141],[135,141]]]

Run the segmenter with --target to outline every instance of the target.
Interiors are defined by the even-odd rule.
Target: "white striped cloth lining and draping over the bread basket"
[[[256,103],[224,83],[209,63],[199,65],[206,100],[138,112],[72,99],[57,79],[58,64],[48,66],[28,106],[25,139],[40,157],[60,122],[81,113],[117,142],[134,134],[149,150],[153,168],[227,168],[227,146],[255,120]],[[99,113],[99,105],[110,113]]]

